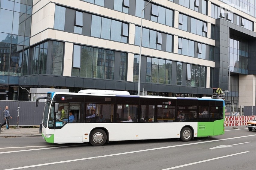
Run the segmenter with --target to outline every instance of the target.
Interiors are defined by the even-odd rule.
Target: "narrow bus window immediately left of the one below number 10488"
[[[154,105],[141,105],[140,110],[140,122],[154,122]]]

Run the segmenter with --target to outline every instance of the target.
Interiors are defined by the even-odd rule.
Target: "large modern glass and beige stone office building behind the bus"
[[[232,104],[255,106],[254,1],[0,2],[1,99],[28,100],[33,87],[138,94],[141,63],[140,94],[220,87]]]

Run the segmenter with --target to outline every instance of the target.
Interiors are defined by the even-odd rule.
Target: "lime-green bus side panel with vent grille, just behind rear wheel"
[[[213,136],[214,122],[198,122],[197,137]]]

